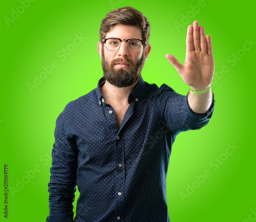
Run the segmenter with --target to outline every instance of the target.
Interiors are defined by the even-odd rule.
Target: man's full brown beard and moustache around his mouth
[[[131,59],[118,58],[110,62],[105,60],[104,51],[102,47],[102,70],[105,80],[110,84],[115,85],[119,88],[127,87],[135,84],[141,77],[141,70],[144,66],[145,54],[142,53],[140,60],[135,64]],[[117,62],[128,62],[130,65],[127,68],[120,68],[115,70],[113,67]]]

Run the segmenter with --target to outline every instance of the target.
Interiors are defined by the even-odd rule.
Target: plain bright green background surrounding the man
[[[141,11],[151,24],[152,51],[142,70],[143,79],[149,83],[166,83],[186,95],[187,85],[165,54],[184,62],[186,30],[194,20],[212,39],[215,111],[207,126],[182,132],[173,145],[167,174],[171,221],[251,221],[256,217],[250,217],[256,208],[255,3],[219,0],[45,0],[27,8],[22,1],[2,4],[1,168],[4,174],[4,164],[8,164],[12,191],[9,218],[4,218],[2,210],[0,220],[45,221],[48,216],[56,119],[68,102],[97,87],[102,76],[97,52],[100,23],[106,13],[124,6]],[[15,17],[17,10],[20,13]],[[15,19],[8,20],[12,16]],[[76,34],[86,39],[72,48]],[[246,39],[254,42],[245,46],[247,51],[243,49]],[[61,57],[63,48],[70,50],[66,58]],[[42,66],[53,61],[58,67],[47,76],[41,74],[44,80],[37,80],[29,90],[28,84],[34,84],[44,71]],[[228,144],[237,147],[229,155],[225,154]],[[205,170],[210,176],[196,182]],[[189,186],[195,189],[187,191]],[[181,192],[187,196],[182,198]],[[4,195],[2,198],[1,209]]]

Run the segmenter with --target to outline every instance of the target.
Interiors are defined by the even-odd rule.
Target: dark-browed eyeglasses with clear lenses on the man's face
[[[130,39],[120,39],[120,38],[104,38],[102,43],[106,44],[106,49],[109,51],[116,51],[120,48],[122,40],[126,41],[127,48],[132,52],[139,52],[142,48],[142,45],[145,44],[144,40],[137,38]]]

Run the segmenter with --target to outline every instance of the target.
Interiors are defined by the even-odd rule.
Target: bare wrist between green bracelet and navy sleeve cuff
[[[199,91],[193,88],[195,91]],[[195,112],[195,113],[206,113],[209,109],[212,101],[212,91],[210,90],[200,93],[200,95],[196,95],[191,90],[189,90],[187,101],[189,107]]]

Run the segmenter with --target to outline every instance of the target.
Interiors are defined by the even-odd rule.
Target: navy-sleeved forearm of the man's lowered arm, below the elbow
[[[51,176],[48,183],[50,212],[47,221],[49,222],[73,221],[72,203],[76,191],[76,168],[73,165],[76,163],[72,156],[75,155],[53,148]]]

